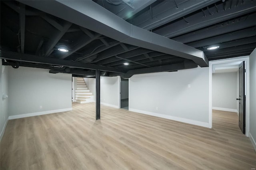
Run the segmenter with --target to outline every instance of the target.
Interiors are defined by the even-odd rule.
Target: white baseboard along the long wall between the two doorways
[[[173,120],[173,121],[179,121],[179,122],[183,122],[183,123],[188,123],[188,124],[192,124],[192,125],[197,125],[197,126],[209,128],[209,123],[206,123],[206,122],[194,121],[194,120],[191,120],[191,119],[185,119],[185,118],[181,118],[181,117],[174,117],[174,116],[170,116],[170,115],[163,115],[163,114],[160,114],[160,113],[153,113],[153,112],[142,111],[142,110],[137,110],[137,109],[130,109],[129,108],[129,111],[142,113],[142,114],[145,114],[145,115],[151,115],[151,116],[155,116],[155,117],[162,117],[162,118],[170,119],[170,120]]]

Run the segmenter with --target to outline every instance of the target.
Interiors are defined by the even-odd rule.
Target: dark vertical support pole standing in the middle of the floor
[[[96,120],[100,119],[100,70],[96,70]]]

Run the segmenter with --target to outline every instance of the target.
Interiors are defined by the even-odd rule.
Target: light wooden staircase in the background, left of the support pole
[[[90,103],[93,102],[93,95],[88,89],[84,78],[76,77],[76,90],[75,90],[75,101],[77,103]]]

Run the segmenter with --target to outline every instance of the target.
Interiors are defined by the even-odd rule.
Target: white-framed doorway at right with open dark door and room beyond
[[[209,128],[213,119],[216,123],[220,117],[228,116],[233,121],[237,119],[235,127],[249,135],[248,70],[248,56],[209,62]]]

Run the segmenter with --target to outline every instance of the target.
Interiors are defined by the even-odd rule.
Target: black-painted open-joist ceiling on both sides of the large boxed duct
[[[55,2],[58,1],[47,3],[54,6]],[[1,0],[0,3],[0,47],[4,65],[46,68],[51,69],[50,73],[85,77],[94,76],[95,69],[104,71],[102,75],[106,76],[122,73],[122,77],[130,77],[198,65],[183,54],[163,52],[138,43],[124,43],[118,37],[99,34],[100,28],[91,26],[94,23],[83,23],[88,27],[82,27],[82,24],[68,21],[68,17],[64,20],[67,11],[63,9],[66,7],[56,9],[63,13],[56,14],[56,17],[52,15],[54,12],[42,12],[38,10],[40,6],[30,5],[27,1]],[[93,3],[123,18],[128,24],[204,51],[208,60],[249,55],[256,47],[255,0],[94,0]],[[97,10],[104,11],[104,8],[97,7]],[[95,16],[97,10],[93,11]],[[174,44],[180,44],[177,42]],[[62,45],[66,45],[69,51],[58,51]],[[186,48],[186,45],[182,47]],[[207,50],[211,45],[220,48]],[[180,50],[175,45],[170,48]]]

